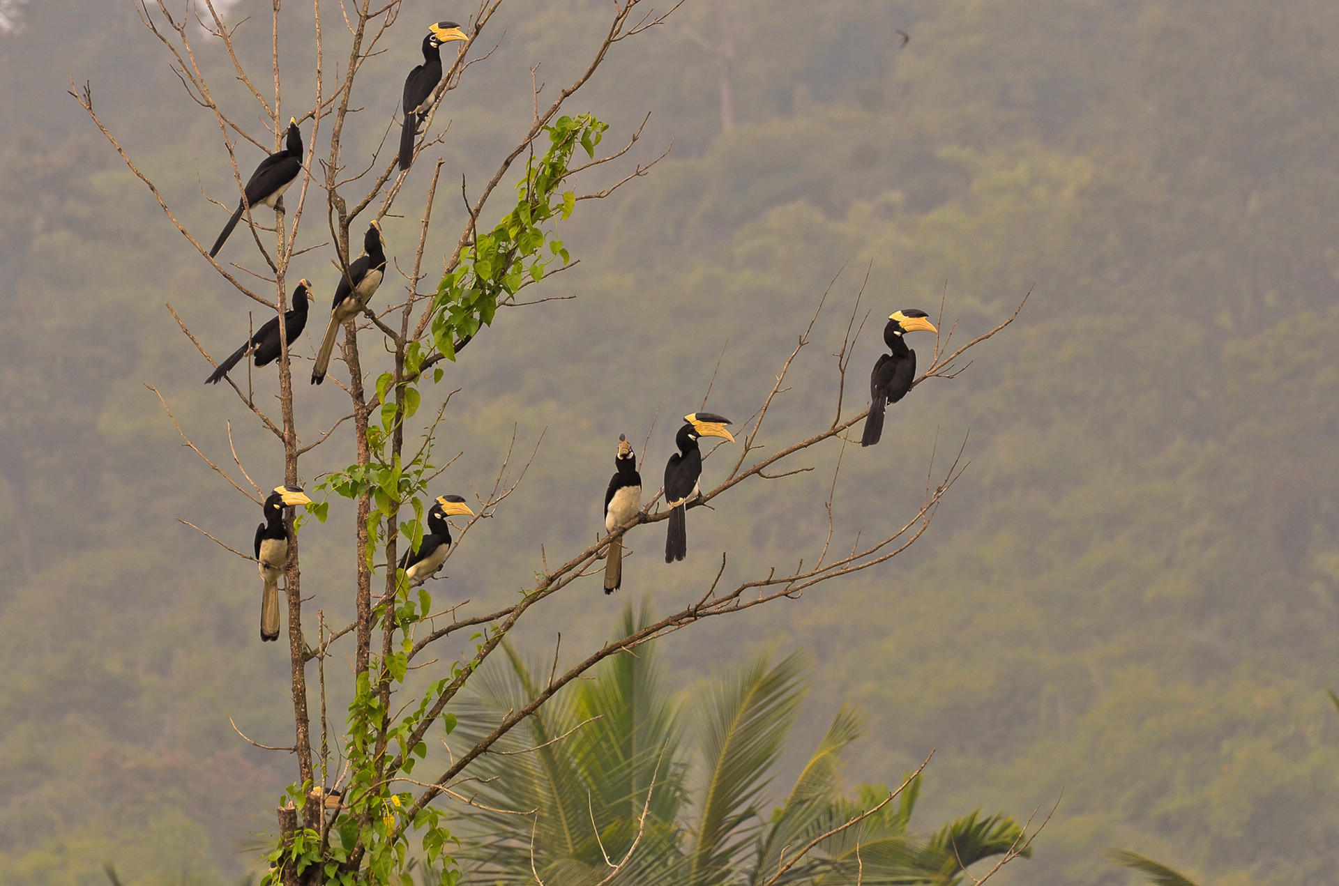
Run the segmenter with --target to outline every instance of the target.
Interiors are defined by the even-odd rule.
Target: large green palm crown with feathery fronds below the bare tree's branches
[[[625,608],[619,636],[649,620],[645,608],[636,616]],[[478,675],[457,711],[467,743],[542,688],[542,665],[507,654],[506,665]],[[765,811],[806,676],[802,654],[777,662],[761,654],[680,699],[655,644],[607,661],[540,708],[524,735],[481,758],[474,780],[455,790],[471,803],[458,823],[462,882],[952,886],[965,866],[1020,849],[1022,828],[1003,814],[973,812],[928,839],[912,835],[917,776],[897,803],[818,840],[782,871],[802,847],[889,795],[882,786],[842,795],[842,755],[862,732],[858,713],[844,707],[785,803]]]

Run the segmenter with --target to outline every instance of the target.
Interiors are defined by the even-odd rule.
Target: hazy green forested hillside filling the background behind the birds
[[[398,205],[420,211],[430,161],[445,157],[454,183],[430,256],[450,252],[465,218],[459,174],[482,182],[528,126],[529,66],[542,62],[548,95],[569,82],[605,5],[511,0],[490,25],[498,52],[449,95],[446,142]],[[230,203],[236,186],[213,119],[131,5],[4,8],[17,27],[0,35],[0,883],[96,883],[104,859],[129,882],[236,882],[257,870],[238,846],[273,830],[295,767],[242,743],[225,711],[285,744],[288,660],[256,636],[254,566],[174,519],[246,549],[258,509],[181,446],[143,384],[229,466],[230,419],[252,475],[277,483],[273,439],[230,391],[201,384],[209,367],[163,308],[220,356],[242,340],[250,304],[66,95],[70,75],[91,82],[99,114],[204,242],[226,215],[200,187]],[[254,15],[238,39],[258,66],[268,8],[232,12]],[[471,9],[404,3],[392,51],[360,80],[349,157],[390,124],[422,24]],[[694,39],[719,39],[722,9],[728,131],[715,60]],[[297,36],[309,12],[285,15],[287,114],[312,90]],[[897,28],[912,35],[901,51]],[[254,122],[225,62],[206,52],[220,99]],[[866,269],[854,408],[890,311],[933,315],[947,293],[944,325],[976,335],[1035,285],[961,377],[893,407],[876,450],[845,451],[849,545],[909,518],[936,439],[941,470],[971,432],[971,466],[917,545],[802,600],[675,634],[661,653],[690,687],[767,644],[810,649],[797,759],[857,703],[870,728],[853,779],[897,782],[936,751],[920,827],[977,807],[1044,815],[1063,794],[1035,858],[1002,886],[1133,882],[1109,846],[1218,885],[1334,882],[1336,90],[1339,5],[1320,0],[690,0],[569,103],[612,123],[607,147],[649,111],[636,162],[672,142],[648,177],[578,206],[560,236],[581,264],[526,290],[577,298],[499,312],[426,395],[435,406],[461,388],[439,452],[465,455],[437,494],[490,486],[513,426],[526,451],[545,435],[434,594],[505,605],[541,542],[554,557],[593,541],[617,434],[640,448],[659,412],[644,462],[659,486],[675,419],[699,407],[722,351],[707,408],[742,422],[833,277],[769,446],[830,422],[830,355]],[[238,149],[244,171],[258,159]],[[386,229],[387,252],[412,261],[412,222]],[[300,245],[325,237],[315,202],[304,232]],[[304,360],[336,280],[329,257],[291,272],[316,286]],[[254,266],[254,246],[238,233],[222,258]],[[912,339],[924,364],[932,339]],[[304,365],[305,438],[347,402],[308,388]],[[256,384],[277,388],[273,369]],[[661,527],[633,531],[621,596],[577,584],[520,644],[552,654],[561,630],[574,660],[624,600],[667,612],[700,596],[723,550],[735,581],[813,551],[836,452],[695,510],[674,569],[659,562]],[[348,460],[336,447],[305,456],[304,484]],[[724,464],[710,459],[704,479]],[[336,501],[301,535],[303,588],[332,624],[352,609],[352,522]],[[331,671],[343,667],[336,654]]]

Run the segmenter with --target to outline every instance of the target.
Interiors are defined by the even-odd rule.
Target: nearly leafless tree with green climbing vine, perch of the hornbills
[[[502,3],[503,0],[481,0],[471,21],[465,27],[469,39],[450,44],[458,46],[459,50],[447,67],[427,112],[427,132],[432,131],[432,119],[443,96],[461,86],[473,64],[491,55],[491,51],[474,54],[474,50]],[[327,7],[329,5],[327,3]],[[244,193],[245,181],[244,167],[238,166],[234,153],[236,146],[246,141],[265,150],[277,149],[289,116],[287,110],[281,110],[284,104],[281,74],[288,62],[281,59],[280,54],[281,27],[288,27],[288,19],[281,20],[281,0],[272,0],[272,7],[270,35],[268,35],[269,71],[256,75],[242,63],[244,52],[234,43],[237,25],[229,24],[226,11],[216,0],[198,0],[198,3],[189,0],[185,5],[169,0],[153,0],[153,3],[139,0],[138,5],[141,21],[171,56],[174,72],[182,87],[200,106],[201,112],[209,115],[217,126],[238,193]],[[475,189],[473,198],[467,198],[469,218],[455,237],[451,253],[442,256],[441,270],[435,269],[435,260],[427,256],[434,202],[442,183],[442,162],[438,161],[426,193],[426,209],[418,219],[414,260],[408,268],[395,264],[395,270],[403,280],[403,297],[390,300],[392,304],[378,311],[364,308],[362,315],[355,315],[344,323],[343,360],[349,371],[349,383],[344,389],[349,397],[349,407],[348,412],[328,428],[299,428],[295,420],[292,353],[287,345],[284,315],[288,308],[287,278],[293,258],[307,252],[297,249],[296,244],[309,197],[315,194],[317,211],[324,210],[325,228],[335,245],[335,264],[347,273],[352,258],[351,229],[360,224],[360,219],[380,219],[391,213],[402,194],[407,178],[406,173],[398,170],[395,150],[383,153],[378,149],[370,158],[353,159],[347,157],[344,149],[345,127],[359,112],[359,108],[351,107],[353,84],[367,60],[383,51],[388,43],[388,35],[398,25],[400,1],[384,0],[374,7],[371,0],[345,0],[337,11],[332,11],[323,9],[321,0],[313,0],[309,27],[313,29],[311,46],[315,47],[315,98],[309,106],[300,107],[291,115],[300,127],[308,128],[303,173],[288,191],[287,205],[284,201],[276,203],[273,226],[269,225],[268,209],[248,206],[244,211],[244,221],[261,260],[258,269],[224,265],[210,257],[208,248],[202,245],[205,241],[182,224],[162,191],[123,150],[111,127],[99,116],[94,107],[91,86],[84,84],[80,88],[71,83],[71,95],[130,170],[149,187],[169,222],[238,293],[279,317],[281,343],[279,415],[272,415],[257,402],[249,369],[245,385],[232,377],[228,383],[258,426],[272,434],[283,450],[284,483],[296,486],[301,476],[300,463],[308,464],[320,455],[320,447],[335,439],[337,432],[351,435],[356,451],[353,464],[332,466],[327,460],[319,463],[316,471],[324,476],[320,489],[356,503],[351,547],[358,551],[358,573],[353,586],[348,589],[355,601],[356,618],[345,626],[332,629],[325,625],[323,613],[317,612],[315,642],[311,640],[312,613],[304,609],[301,594],[295,517],[288,517],[285,594],[293,744],[272,749],[292,752],[297,762],[297,772],[289,787],[289,802],[277,810],[280,838],[279,846],[269,854],[274,869],[268,882],[281,882],[285,886],[316,882],[388,882],[394,874],[404,873],[411,838],[419,843],[420,850],[416,851],[422,851],[430,865],[442,863],[443,849],[451,835],[435,800],[455,795],[453,788],[470,778],[467,770],[473,760],[487,754],[499,737],[570,681],[603,658],[632,649],[653,637],[706,618],[739,613],[781,598],[794,598],[823,582],[886,562],[927,530],[945,491],[960,475],[961,463],[956,459],[941,471],[937,480],[931,480],[928,474],[924,501],[915,513],[901,525],[878,533],[873,539],[860,541],[857,537],[856,543],[846,550],[837,550],[834,546],[837,534],[830,495],[826,538],[815,541],[814,550],[797,566],[771,569],[765,575],[735,586],[722,586],[726,566],[726,558],[722,557],[715,580],[702,589],[700,597],[692,605],[620,641],[588,650],[576,665],[561,673],[554,667],[548,684],[529,704],[513,711],[489,735],[461,756],[451,759],[439,774],[427,779],[414,778],[415,763],[427,756],[426,739],[430,728],[443,721],[450,728],[453,715],[449,708],[453,700],[477,668],[498,649],[517,622],[540,601],[564,592],[573,582],[595,571],[611,541],[621,538],[636,526],[655,523],[668,515],[668,511],[657,507],[660,497],[652,497],[632,522],[582,550],[569,551],[561,563],[550,566],[548,557],[544,557],[541,569],[536,571],[534,585],[513,605],[491,613],[458,612],[461,606],[434,610],[428,590],[411,588],[404,571],[396,567],[403,553],[402,535],[407,535],[407,542],[412,547],[422,541],[427,484],[447,467],[432,463],[432,443],[451,395],[438,396],[439,406],[430,420],[418,419],[418,424],[410,424],[420,411],[424,393],[431,395],[438,389],[445,377],[445,364],[455,361],[461,351],[485,327],[491,325],[499,306],[514,304],[521,289],[540,282],[548,273],[573,264],[561,242],[554,238],[554,225],[570,215],[581,201],[608,197],[624,183],[644,175],[656,162],[624,167],[601,187],[578,190],[573,183],[576,177],[582,173],[590,175],[605,169],[616,169],[613,165],[627,158],[641,130],[628,134],[619,150],[601,154],[597,149],[607,126],[590,114],[568,115],[564,114],[564,108],[619,43],[652,29],[676,8],[678,4],[656,11],[647,8],[647,0],[615,0],[608,9],[603,40],[581,72],[562,87],[552,102],[541,103],[542,86],[532,78],[534,111],[530,123],[518,134],[514,145],[498,158],[490,178],[482,187]],[[404,31],[407,28],[395,32],[396,46],[403,44],[399,37]],[[337,40],[333,36],[336,33]],[[208,35],[206,44],[201,43],[202,35]],[[347,54],[345,50],[340,50],[340,60],[335,66],[329,66],[325,59],[325,50],[332,43],[341,46],[347,43]],[[208,60],[206,55],[210,56]],[[225,106],[216,99],[216,91],[205,71],[218,60],[232,67],[233,76],[246,95],[245,107]],[[253,119],[254,115],[266,123],[268,135],[253,132],[244,124],[244,120]],[[418,146],[419,151],[434,141],[431,135],[420,138],[423,143]],[[584,151],[585,157],[576,161],[574,158],[581,157],[578,150]],[[509,193],[502,186],[511,182],[516,182],[514,201],[502,197]],[[461,187],[463,197],[469,193],[463,181]],[[217,202],[225,207],[232,205],[230,198]],[[505,211],[499,214],[499,221],[489,225],[485,221],[486,213],[497,213],[498,202],[505,205]],[[434,269],[428,270],[428,266]],[[391,276],[390,270],[387,268],[387,278]],[[420,289],[428,280],[430,285]],[[769,410],[777,397],[785,393],[786,373],[801,349],[809,344],[826,300],[828,293],[823,293],[813,319],[781,367],[775,385],[747,423],[743,446],[728,475],[716,487],[704,490],[691,506],[707,505],[728,495],[746,482],[775,480],[811,470],[787,470],[787,459],[828,443],[845,446],[845,431],[864,418],[865,412],[845,415],[838,396],[830,424],[814,428],[803,439],[781,446],[770,444],[771,455],[761,456],[763,424]],[[838,391],[845,389],[846,369],[858,335],[856,328],[858,311],[860,297],[856,298],[850,319],[846,321],[846,337],[837,355]],[[200,349],[201,356],[214,364],[175,311],[173,316],[182,332]],[[952,377],[957,372],[955,361],[965,351],[1003,329],[1012,319],[957,349],[949,349],[952,333],[943,341],[937,340],[931,365],[920,380]],[[359,347],[360,335],[364,339],[372,335],[376,341],[375,359],[388,363],[388,368],[375,373],[375,377],[374,371],[364,367],[364,355]],[[388,357],[380,356],[383,351]],[[367,359],[366,363],[372,363],[372,359]],[[163,407],[175,424],[177,420],[166,400]],[[179,424],[177,428],[186,444],[236,491],[256,503],[265,498],[266,490],[252,479],[256,471],[246,470],[237,458],[236,448],[232,448],[230,456],[237,472],[241,474],[241,480],[234,479],[230,468],[220,466],[222,459],[210,459],[195,447]],[[422,442],[418,446],[412,442],[412,432],[406,436],[410,428],[422,431]],[[462,545],[478,519],[491,517],[505,506],[524,478],[529,462],[518,464],[514,448],[509,448],[495,482],[475,502],[474,517],[459,533],[457,546],[449,555]],[[833,490],[836,484],[834,474]],[[325,519],[325,503],[308,506],[321,522]],[[400,514],[406,509],[412,510],[414,519],[402,523]],[[187,525],[195,527],[195,523]],[[233,554],[253,559],[205,529],[200,531]],[[378,567],[384,570],[384,584],[374,590]],[[443,668],[443,673],[431,680],[426,688],[412,691],[407,688],[406,676],[411,669],[426,669],[434,664],[427,661],[424,653],[435,649],[439,641],[465,629],[473,629],[477,634],[473,653],[455,661],[450,668]],[[351,650],[347,650],[348,645],[352,645]],[[355,689],[351,697],[343,701],[348,711],[348,727],[341,736],[332,733],[329,725],[324,671],[325,658],[336,649],[340,649],[341,654],[351,653],[348,657],[355,675]],[[316,727],[319,740],[312,735],[313,715],[308,688],[309,665],[313,661],[320,699]],[[332,748],[332,743],[337,747]],[[446,863],[442,867],[450,870],[451,866]]]

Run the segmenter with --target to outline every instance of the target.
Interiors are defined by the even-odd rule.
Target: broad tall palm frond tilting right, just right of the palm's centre
[[[694,703],[704,787],[687,886],[723,882],[747,849],[747,830],[758,822],[754,802],[805,697],[806,657],[793,653],[775,667],[770,658],[761,654],[712,677]]]

